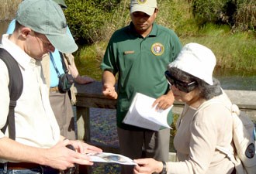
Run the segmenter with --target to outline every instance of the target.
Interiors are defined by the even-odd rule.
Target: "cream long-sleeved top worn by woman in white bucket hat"
[[[227,106],[231,104],[225,94],[216,98]],[[196,108],[185,104],[174,139],[179,162],[168,162],[168,174],[230,174],[233,171],[234,164],[216,149],[218,145],[234,151],[233,119],[223,104],[211,104],[197,114]]]

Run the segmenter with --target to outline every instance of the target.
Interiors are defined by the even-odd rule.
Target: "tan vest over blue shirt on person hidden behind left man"
[[[64,53],[63,55],[64,55],[64,62],[68,70],[67,60],[70,63],[74,63],[74,56],[71,53],[67,53],[67,54]],[[49,53],[43,55],[43,60],[41,63],[42,63],[42,69],[43,69],[43,76],[45,77],[45,80],[47,82],[47,87],[50,89],[50,55]],[[76,91],[76,88],[74,87],[74,84],[73,84],[71,87],[71,104],[72,105],[76,104],[75,91]]]

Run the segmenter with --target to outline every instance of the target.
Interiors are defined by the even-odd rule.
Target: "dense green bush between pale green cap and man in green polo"
[[[66,0],[64,13],[78,43],[95,43],[102,24],[109,19],[119,0]]]

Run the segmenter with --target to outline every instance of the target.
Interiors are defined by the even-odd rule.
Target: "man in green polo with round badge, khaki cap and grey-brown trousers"
[[[154,23],[158,12],[156,0],[131,0],[130,3],[132,22],[113,33],[102,60],[102,92],[118,99],[116,118],[121,154],[131,159],[152,157],[164,161],[169,152],[168,128],[150,131],[122,121],[137,92],[157,98],[154,105],[158,109],[173,104],[164,71],[168,63],[175,60],[182,44],[175,32]],[[117,73],[118,92],[115,90]],[[171,124],[171,113],[168,118]],[[125,171],[122,173],[133,173],[133,170]]]

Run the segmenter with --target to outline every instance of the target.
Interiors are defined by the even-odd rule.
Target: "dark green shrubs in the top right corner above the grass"
[[[234,31],[256,29],[255,0],[192,0],[191,3],[199,26],[214,22],[228,24]]]

